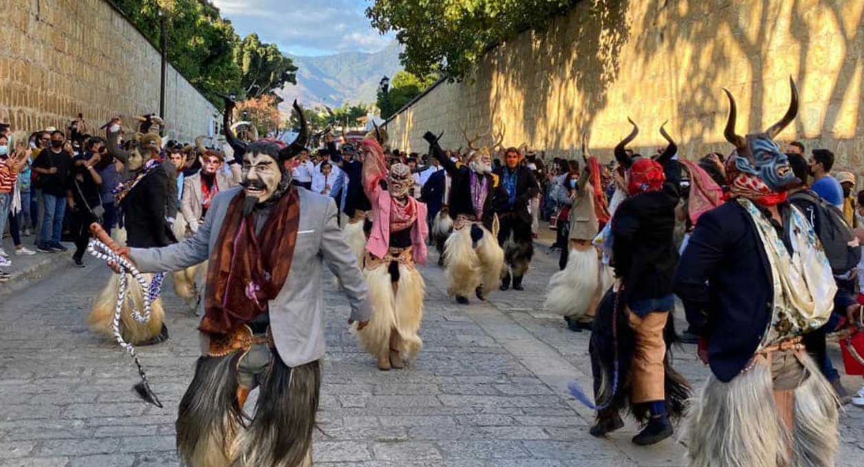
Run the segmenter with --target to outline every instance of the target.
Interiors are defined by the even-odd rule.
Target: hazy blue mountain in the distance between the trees
[[[323,57],[289,54],[299,68],[297,85],[288,84],[276,92],[284,99],[280,110],[289,112],[295,98],[304,107],[321,104],[340,107],[346,102],[372,104],[381,78],[392,77],[402,69],[400,50],[399,43],[392,41],[390,46],[374,54],[345,52]]]

